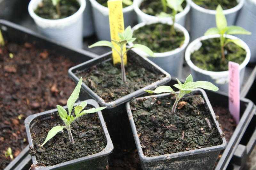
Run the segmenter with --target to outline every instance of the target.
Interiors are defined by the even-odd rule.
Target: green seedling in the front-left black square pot
[[[73,135],[71,133],[71,127],[70,127],[71,123],[74,122],[80,116],[86,115],[88,113],[95,113],[95,112],[98,112],[98,111],[106,108],[106,107],[99,107],[99,108],[91,108],[88,110],[83,110],[84,107],[86,107],[86,105],[87,105],[86,101],[84,101],[80,105],[74,107],[74,103],[76,102],[76,100],[78,99],[78,96],[79,96],[82,82],[83,82],[83,78],[81,77],[78,84],[76,85],[76,88],[74,89],[74,91],[72,92],[70,97],[68,98],[68,101],[67,101],[68,113],[63,107],[61,107],[60,105],[57,105],[59,116],[62,119],[62,121],[64,122],[65,126],[53,127],[48,132],[47,137],[44,140],[44,143],[41,144],[40,146],[43,146],[48,140],[50,140],[52,137],[54,137],[58,132],[60,132],[64,128],[66,128],[68,131],[70,143],[74,144],[74,139],[73,139]],[[74,107],[74,112],[75,112],[74,116],[75,117],[73,115],[71,115],[73,107]]]

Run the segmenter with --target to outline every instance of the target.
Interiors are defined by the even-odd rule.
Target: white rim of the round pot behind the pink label
[[[202,74],[205,74],[205,75],[208,75],[208,76],[216,76],[216,77],[225,77],[225,76],[228,76],[229,72],[228,70],[227,71],[208,71],[208,70],[203,70],[199,67],[197,67],[190,59],[190,56],[191,56],[191,52],[193,51],[193,48],[196,48],[196,46],[198,46],[199,43],[201,43],[201,41],[203,40],[207,40],[207,39],[211,39],[211,38],[219,38],[220,35],[219,34],[214,34],[214,35],[204,35],[202,37],[199,37],[197,38],[196,40],[192,41],[186,51],[185,51],[185,60],[187,62],[187,64],[189,65],[189,67],[197,72],[200,72]],[[229,39],[239,39],[233,35],[226,35],[227,38]],[[241,39],[239,39],[241,40]],[[246,67],[246,65],[249,63],[250,61],[250,58],[251,58],[251,51],[250,51],[250,48],[248,47],[248,45],[243,41],[242,41],[242,44],[244,45],[244,48],[245,48],[245,51],[246,51],[246,57],[243,61],[243,63],[241,63],[239,65],[239,70],[241,71],[243,68]],[[197,50],[197,49],[195,49]],[[195,51],[194,50],[194,51]],[[193,52],[194,52],[193,51]]]

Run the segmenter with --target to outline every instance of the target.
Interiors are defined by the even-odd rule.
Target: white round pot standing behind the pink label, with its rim
[[[197,51],[201,46],[202,43],[201,41],[211,39],[211,38],[219,38],[220,35],[205,35],[200,38],[197,38],[196,40],[192,41],[189,45],[188,48],[186,49],[185,52],[185,59],[190,67],[190,70],[192,72],[192,76],[195,81],[209,81],[219,87],[220,91],[228,93],[228,70],[227,71],[207,71],[200,69],[197,67],[194,63],[192,63],[190,56],[194,51]],[[229,39],[238,39],[235,36],[232,35],[227,35],[227,38]],[[244,79],[244,71],[245,67],[248,64],[250,57],[251,57],[251,52],[247,44],[242,41],[242,44],[245,48],[246,51],[246,57],[244,59],[244,62],[240,64],[239,66],[239,71],[240,71],[240,87],[243,83]]]

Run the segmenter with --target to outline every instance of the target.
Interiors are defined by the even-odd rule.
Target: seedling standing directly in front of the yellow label
[[[134,44],[132,47],[123,51],[124,47],[126,46],[127,43],[133,42],[133,41],[136,40],[136,38],[132,37],[132,28],[131,28],[131,26],[128,26],[124,30],[123,33],[118,33],[118,37],[120,39],[119,41],[116,41],[116,40],[111,40],[112,42],[110,42],[110,41],[98,41],[98,42],[92,44],[91,46],[89,46],[89,48],[98,47],[98,46],[107,46],[107,47],[110,47],[110,48],[114,49],[118,53],[118,55],[121,57],[122,80],[123,80],[123,82],[126,82],[125,67],[124,67],[124,55],[129,50],[131,50],[132,48],[138,48],[141,51],[147,53],[148,55],[150,55],[152,57],[154,57],[155,55],[154,55],[154,52],[151,49],[149,49],[148,47],[146,47],[144,45],[141,45],[141,44]],[[120,50],[117,50],[115,48],[114,43],[117,44],[120,47]]]

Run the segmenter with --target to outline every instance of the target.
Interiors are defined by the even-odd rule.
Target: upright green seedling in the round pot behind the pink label
[[[250,35],[251,32],[246,31],[240,26],[228,26],[226,17],[220,5],[216,8],[216,26],[214,28],[208,29],[204,35],[220,34],[220,49],[221,49],[221,61],[225,62],[225,52],[224,47],[229,43],[233,42],[241,48],[244,48],[242,41],[239,39],[231,40],[226,38],[226,34],[247,34]]]

